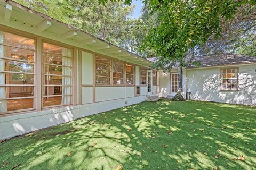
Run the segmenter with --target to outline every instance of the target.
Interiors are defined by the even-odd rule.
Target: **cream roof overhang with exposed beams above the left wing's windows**
[[[133,64],[146,67],[153,64],[126,49],[14,1],[0,1],[0,24]]]

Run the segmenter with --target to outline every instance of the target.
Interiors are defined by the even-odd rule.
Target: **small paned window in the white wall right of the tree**
[[[238,90],[237,68],[221,69],[221,90]]]

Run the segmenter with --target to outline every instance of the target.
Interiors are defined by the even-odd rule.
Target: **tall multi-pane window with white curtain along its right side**
[[[43,107],[72,103],[73,50],[43,43]]]

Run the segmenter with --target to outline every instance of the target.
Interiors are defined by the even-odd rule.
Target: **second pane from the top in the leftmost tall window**
[[[31,50],[14,48],[3,45],[0,45],[0,50],[5,51],[5,53],[0,53],[0,57],[34,61],[34,51]]]

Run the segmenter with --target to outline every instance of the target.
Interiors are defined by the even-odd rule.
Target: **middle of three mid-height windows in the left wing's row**
[[[124,84],[124,63],[113,61],[113,84]]]

